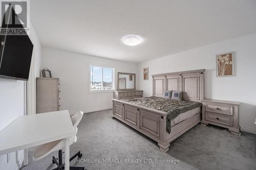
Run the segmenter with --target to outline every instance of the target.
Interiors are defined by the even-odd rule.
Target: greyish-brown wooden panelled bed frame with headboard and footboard
[[[204,71],[205,69],[152,75],[152,94],[163,97],[164,90],[183,91],[184,100],[201,102],[204,99]],[[116,99],[112,99],[112,101],[112,118],[121,120],[157,141],[163,152],[169,150],[171,141],[201,121],[201,114],[196,114],[173,126],[172,132],[168,134],[166,132],[166,112]]]

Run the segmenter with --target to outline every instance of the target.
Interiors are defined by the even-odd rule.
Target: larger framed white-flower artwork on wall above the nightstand
[[[234,76],[234,52],[216,55],[217,77]]]

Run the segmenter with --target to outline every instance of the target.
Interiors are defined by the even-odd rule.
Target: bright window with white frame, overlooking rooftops
[[[114,90],[115,68],[90,65],[91,91]]]

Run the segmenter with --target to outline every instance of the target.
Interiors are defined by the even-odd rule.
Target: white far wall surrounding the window
[[[109,109],[112,107],[113,92],[90,92],[89,64],[100,64],[115,68],[117,72],[137,73],[137,64],[42,48],[41,69],[47,67],[52,77],[60,79],[60,110],[68,109],[71,114]],[[116,88],[116,83],[115,83]]]

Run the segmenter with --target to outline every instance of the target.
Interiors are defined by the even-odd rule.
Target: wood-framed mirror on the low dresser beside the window
[[[135,90],[136,74],[118,72],[117,90]]]

